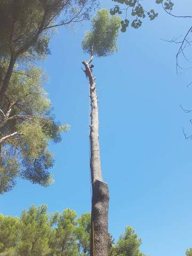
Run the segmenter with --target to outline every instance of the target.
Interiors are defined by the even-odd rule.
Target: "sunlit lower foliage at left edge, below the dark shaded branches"
[[[18,176],[49,186],[53,156],[49,141],[59,142],[67,125],[51,116],[51,102],[42,87],[39,68],[13,71],[9,89],[2,102],[0,123],[0,193],[9,191]]]

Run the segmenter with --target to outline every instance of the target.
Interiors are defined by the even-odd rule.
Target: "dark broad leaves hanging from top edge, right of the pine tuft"
[[[121,22],[121,31],[125,32],[127,27],[129,27],[130,22],[133,28],[139,28],[142,25],[142,20],[148,17],[150,20],[154,20],[158,13],[153,9],[145,10],[143,7],[143,1],[141,0],[112,0],[118,4],[124,5],[121,8],[121,5],[115,5],[110,9],[111,15],[124,15],[125,18]],[[156,0],[157,4],[162,4],[165,11],[170,12],[173,9],[173,2],[171,0]],[[128,13],[131,11],[131,15],[135,18],[130,21],[128,17]],[[129,15],[130,16],[130,15]]]

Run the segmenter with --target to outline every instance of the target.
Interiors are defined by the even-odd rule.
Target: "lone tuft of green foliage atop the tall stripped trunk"
[[[107,9],[102,9],[91,20],[91,30],[88,30],[82,41],[84,52],[105,57],[118,50],[116,45],[121,27],[121,18],[112,16]]]

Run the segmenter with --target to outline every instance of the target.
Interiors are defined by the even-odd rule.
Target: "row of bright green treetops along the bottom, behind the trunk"
[[[47,213],[47,206],[31,206],[20,218],[0,214],[1,256],[77,256],[90,253],[91,214],[75,211]],[[109,256],[145,256],[141,239],[126,227],[117,243],[109,234]],[[188,254],[187,256],[189,256]]]

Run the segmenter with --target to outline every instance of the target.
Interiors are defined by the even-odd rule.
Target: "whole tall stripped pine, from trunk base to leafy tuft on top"
[[[83,61],[85,74],[89,77],[91,99],[91,181],[92,181],[92,212],[91,212],[91,256],[108,255],[108,204],[109,191],[107,183],[102,180],[100,149],[99,149],[99,117],[98,97],[95,77],[92,74],[93,56],[105,57],[113,54],[118,47],[116,41],[121,27],[121,19],[110,17],[106,9],[97,12],[92,19],[92,30],[87,31],[82,42],[84,52],[91,55],[90,60]]]

